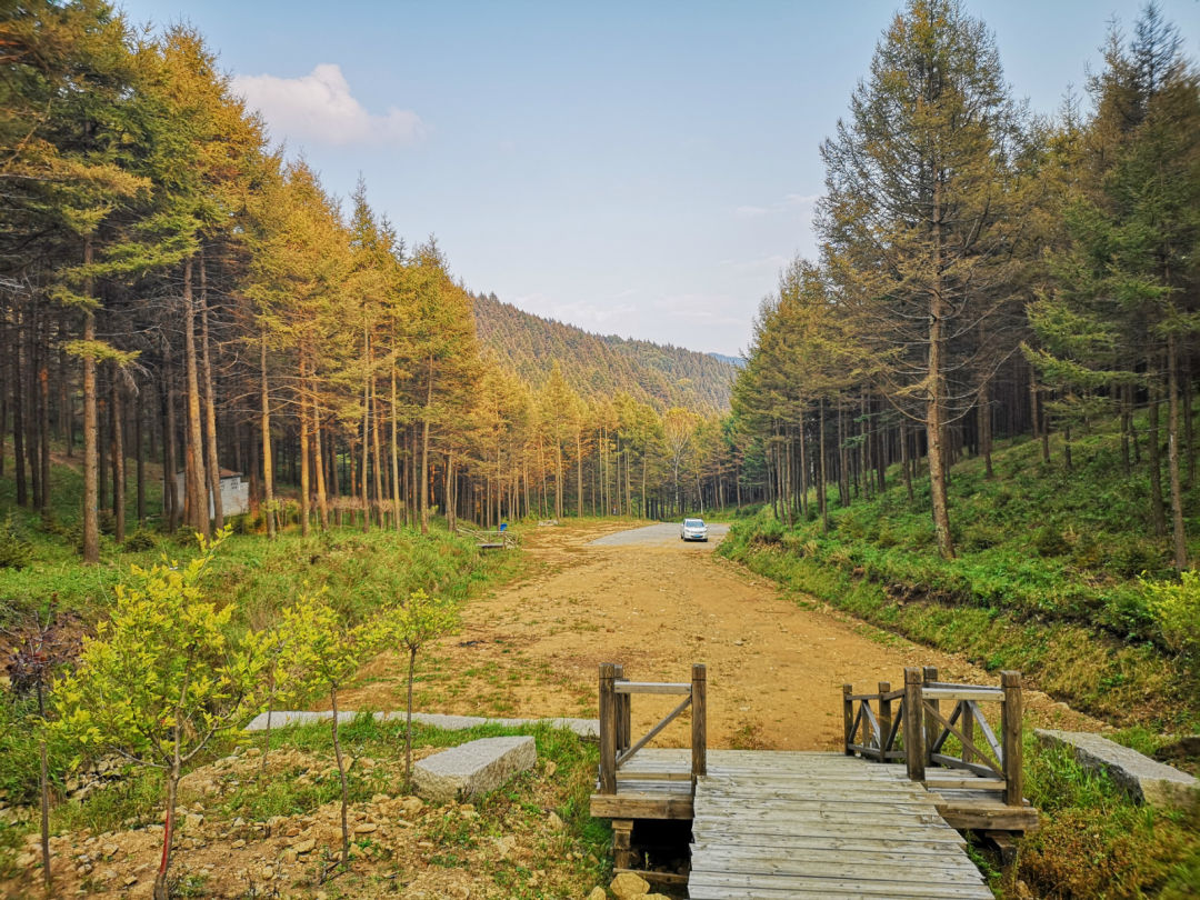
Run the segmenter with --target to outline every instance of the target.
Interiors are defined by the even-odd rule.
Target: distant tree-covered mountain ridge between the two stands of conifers
[[[524,312],[494,294],[475,295],[474,301],[480,343],[534,388],[558,360],[568,383],[584,397],[625,391],[660,410],[679,406],[720,413],[730,408],[737,370],[728,356],[596,335]]]

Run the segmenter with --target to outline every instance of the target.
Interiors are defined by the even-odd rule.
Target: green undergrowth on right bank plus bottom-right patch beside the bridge
[[[1114,726],[1108,737],[1154,754],[1200,731],[1196,661],[1172,646],[1156,586],[1175,586],[1165,539],[1146,521],[1147,485],[1123,473],[1120,434],[1076,436],[1073,468],[1061,444],[1045,463],[1037,442],[997,448],[996,478],[960,462],[950,498],[960,547],[937,552],[928,484],[910,503],[899,474],[871,498],[780,521],[769,505],[734,520],[718,552],[858,618],[1026,683]],[[1188,492],[1195,510],[1195,486]],[[816,510],[816,503],[810,504]],[[1194,532],[1194,516],[1189,530]],[[1200,760],[1172,760],[1196,773]],[[1139,806],[1104,776],[1026,736],[1026,793],[1042,829],[1018,865],[990,868],[1006,898],[1200,895],[1200,804]]]

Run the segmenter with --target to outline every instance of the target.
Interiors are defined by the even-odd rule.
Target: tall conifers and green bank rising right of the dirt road
[[[1060,629],[1090,630],[1146,668],[1058,692],[1195,719],[1198,82],[1151,5],[1112,28],[1086,106],[1032,119],[959,4],[896,16],[821,148],[821,257],[781,274],[734,384],[770,498],[745,558],[787,548],[799,587],[894,624],[932,600],[913,632],[986,634],[1048,684],[1090,643]]]

